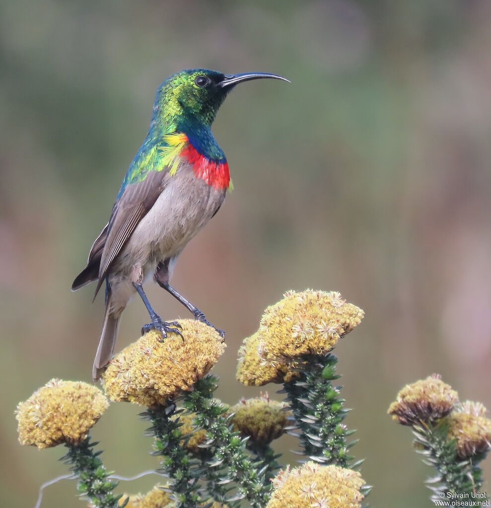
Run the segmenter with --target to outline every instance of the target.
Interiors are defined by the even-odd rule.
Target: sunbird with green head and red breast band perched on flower
[[[163,321],[143,291],[142,283],[152,275],[195,319],[212,326],[169,279],[177,257],[218,212],[231,184],[211,123],[236,84],[261,78],[288,81],[263,72],[229,75],[192,69],[170,76],[157,89],[148,134],[128,168],[107,225],[90,249],[86,268],[72,284],[75,291],[97,280],[95,299],[106,283],[94,380],[111,359],[121,313],[135,293],[151,320],[142,334],[153,328],[162,341],[168,333],[182,336],[179,323]]]

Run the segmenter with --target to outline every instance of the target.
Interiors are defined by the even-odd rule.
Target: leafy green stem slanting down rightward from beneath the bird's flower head
[[[196,423],[206,429],[207,443],[215,449],[214,461],[209,467],[220,467],[226,474],[223,481],[232,480],[238,484],[237,498],[247,498],[252,508],[263,508],[269,487],[265,487],[264,475],[257,471],[245,451],[246,440],[233,432],[229,420],[221,416],[227,408],[212,398],[217,386],[215,376],[205,376],[194,384],[192,392],[183,395],[183,405],[196,413]]]

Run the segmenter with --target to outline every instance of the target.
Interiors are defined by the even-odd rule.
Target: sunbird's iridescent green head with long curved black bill
[[[276,74],[250,72],[223,74],[207,69],[191,69],[167,78],[157,90],[152,122],[200,122],[211,125],[227,93],[242,81],[272,78],[288,81]]]

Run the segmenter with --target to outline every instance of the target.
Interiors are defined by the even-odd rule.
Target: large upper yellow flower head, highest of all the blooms
[[[289,291],[261,317],[262,357],[296,359],[329,352],[337,340],[361,323],[363,311],[335,291]]]

